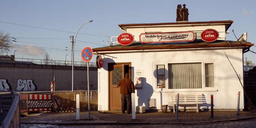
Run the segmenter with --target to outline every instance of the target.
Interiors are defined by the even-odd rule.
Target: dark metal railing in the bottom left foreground
[[[19,101],[17,92],[0,94],[0,128],[20,127]]]

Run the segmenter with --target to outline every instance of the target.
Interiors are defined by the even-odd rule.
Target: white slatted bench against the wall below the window
[[[198,112],[198,104],[203,104],[202,94],[179,94],[179,105],[181,104],[196,104]],[[175,113],[175,105],[177,105],[177,94],[169,94],[168,105],[173,105]]]

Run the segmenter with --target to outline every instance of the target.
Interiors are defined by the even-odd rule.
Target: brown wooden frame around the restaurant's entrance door
[[[129,65],[129,79],[132,80],[132,62],[108,63],[108,110],[110,110],[110,65],[117,64]]]

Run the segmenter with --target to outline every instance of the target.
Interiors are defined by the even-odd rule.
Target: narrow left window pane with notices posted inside
[[[156,66],[156,83],[157,88],[165,88],[165,67],[164,65]]]

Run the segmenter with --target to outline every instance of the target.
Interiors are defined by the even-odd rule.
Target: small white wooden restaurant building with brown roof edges
[[[201,110],[211,108],[210,97],[213,95],[214,109],[236,110],[238,92],[241,92],[240,109],[243,109],[243,88],[235,71],[243,83],[243,53],[254,44],[227,41],[226,33],[232,23],[233,21],[120,24],[120,30],[134,36],[132,44],[93,49],[94,54],[103,58],[103,66],[98,69],[98,110],[121,110],[119,88],[115,86],[124,78],[125,73],[130,73],[130,79],[135,84],[137,77],[142,80],[142,87],[135,90],[135,106],[146,106],[146,110],[161,110],[161,105],[168,104],[170,93],[202,94],[203,104],[199,104]],[[209,28],[219,33],[216,41],[205,42],[201,39],[201,32]],[[193,41],[139,41],[142,33],[190,31],[195,34]],[[168,109],[172,110],[173,107],[168,105]],[[194,110],[196,105],[181,105],[179,109]]]

